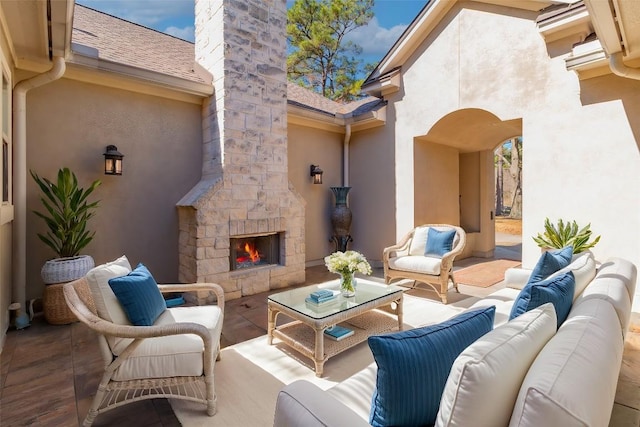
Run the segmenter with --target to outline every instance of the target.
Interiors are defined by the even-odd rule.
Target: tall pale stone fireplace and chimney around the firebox
[[[287,176],[285,0],[196,0],[196,61],[213,75],[203,105],[202,180],[178,203],[179,279],[234,299],[305,279],[304,200]],[[279,266],[230,272],[230,237],[283,233]]]

